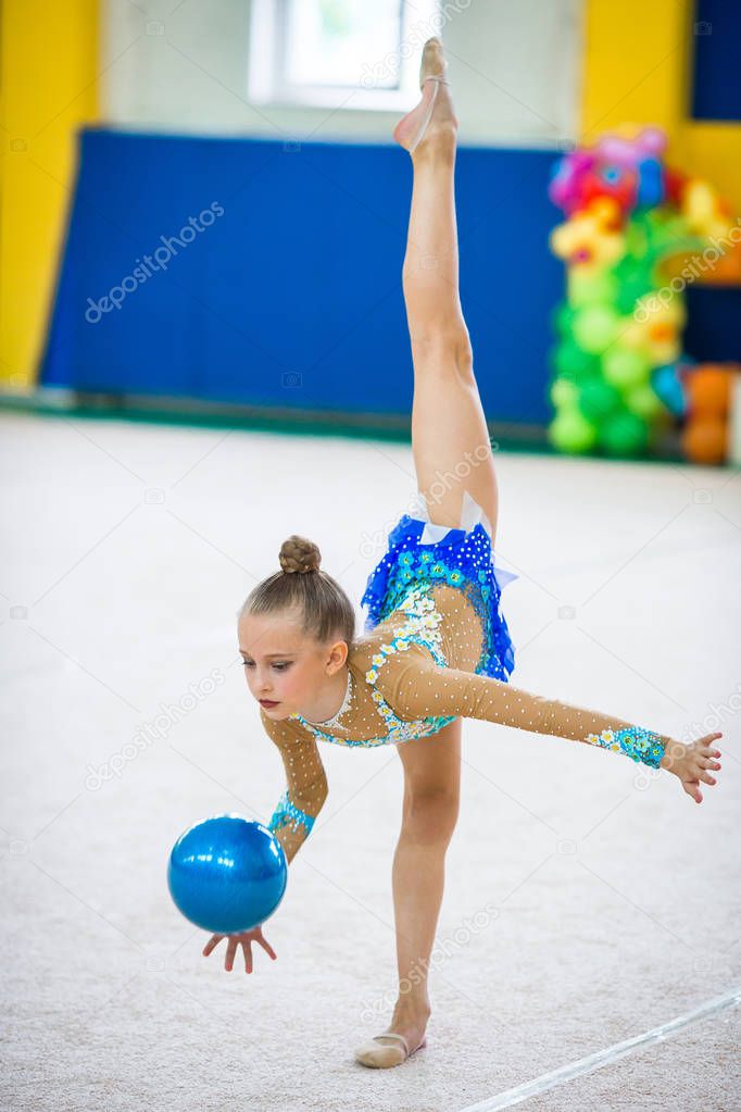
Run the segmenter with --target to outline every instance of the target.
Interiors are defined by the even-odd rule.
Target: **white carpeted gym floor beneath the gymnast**
[[[201,956],[166,867],[193,822],[264,821],[283,788],[237,663],[243,597],[300,533],[358,602],[410,448],[0,427],[3,1110],[460,1110],[741,983],[738,471],[499,456],[512,683],[722,729],[723,768],[698,805],[618,754],[465,723],[428,1046],[372,1071],[352,1051],[393,1001],[395,749],[324,747],[330,796],[266,926],[278,961],[258,950],[251,976],[223,944]],[[740,1012],[521,1106],[738,1109]]]

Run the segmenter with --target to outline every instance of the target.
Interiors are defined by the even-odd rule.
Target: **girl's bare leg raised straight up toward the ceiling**
[[[438,39],[425,72],[442,72]],[[412,455],[430,518],[461,522],[463,490],[497,530],[498,488],[473,355],[458,289],[454,170],[458,121],[440,85],[430,127],[412,153],[413,187],[402,285],[414,365]]]

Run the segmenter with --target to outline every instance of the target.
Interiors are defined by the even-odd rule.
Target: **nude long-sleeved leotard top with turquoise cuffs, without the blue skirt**
[[[479,718],[531,733],[584,742],[653,768],[668,737],[624,719],[545,698],[482,674],[482,622],[460,590],[411,586],[399,607],[348,654],[348,691],[331,719],[300,714],[272,721],[287,786],[270,820],[290,861],[327,795],[318,742],[348,746],[402,744],[438,733],[457,717]]]

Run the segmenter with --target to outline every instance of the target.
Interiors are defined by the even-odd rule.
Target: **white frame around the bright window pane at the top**
[[[286,20],[289,0],[252,0],[248,62],[248,99],[254,105],[283,108],[342,108],[361,111],[399,111],[410,107],[419,92],[422,43],[439,34],[444,23],[441,0],[400,0],[401,19],[395,51],[375,67],[394,68],[394,88],[373,88],[373,70],[359,75],[357,86],[293,86],[284,78]],[[372,2],[372,0],[369,0]],[[455,4],[449,3],[454,9]]]

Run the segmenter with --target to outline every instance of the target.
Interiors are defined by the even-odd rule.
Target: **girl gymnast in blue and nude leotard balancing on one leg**
[[[358,1062],[375,1068],[395,1066],[425,1045],[427,971],[458,816],[463,718],[584,742],[664,768],[698,803],[700,782],[715,784],[709,770],[720,768],[712,743],[721,733],[683,745],[508,682],[514,652],[500,602],[515,576],[492,555],[497,477],[458,291],[458,120],[445,67],[440,39],[429,39],[421,102],[393,132],[413,163],[402,285],[421,513],[401,517],[368,579],[364,636],[356,636],[350,598],[320,569],[317,545],[296,534],[281,547],[281,570],[247,597],[238,626],[247,684],[286,770],[270,828],[289,863],[327,798],[318,742],[398,746],[404,792],[392,886],[400,989],[388,1030],[356,1051]],[[470,466],[457,469],[462,460]],[[445,486],[441,473],[465,479]],[[203,954],[222,937],[214,934]],[[261,926],[228,937],[227,970],[238,945],[248,973],[252,942],[276,957]]]

